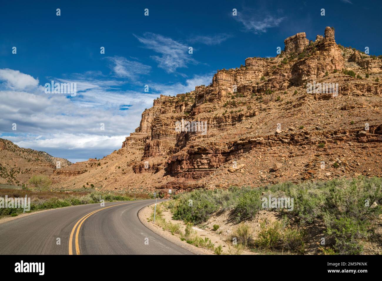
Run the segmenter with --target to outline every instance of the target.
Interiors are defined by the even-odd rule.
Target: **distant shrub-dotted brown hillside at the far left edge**
[[[21,185],[34,174],[51,175],[57,169],[58,162],[61,168],[72,164],[44,151],[24,149],[10,140],[0,139],[0,184]]]

